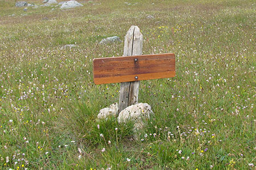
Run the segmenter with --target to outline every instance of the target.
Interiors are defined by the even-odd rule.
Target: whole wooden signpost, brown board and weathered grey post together
[[[119,112],[138,103],[139,80],[175,76],[175,55],[141,55],[142,42],[143,36],[139,28],[131,26],[125,36],[124,57],[93,59],[95,84],[121,82]]]

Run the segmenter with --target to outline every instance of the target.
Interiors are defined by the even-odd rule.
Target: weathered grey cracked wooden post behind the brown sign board
[[[131,26],[125,36],[125,47],[123,56],[139,56],[142,54],[143,35],[139,27]],[[134,62],[137,62],[136,58]],[[138,79],[138,77],[135,79]],[[126,107],[138,103],[139,81],[124,82],[120,86],[119,109],[118,113]]]

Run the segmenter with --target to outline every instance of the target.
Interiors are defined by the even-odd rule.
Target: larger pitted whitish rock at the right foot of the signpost
[[[144,120],[150,118],[153,114],[154,112],[151,110],[151,106],[147,103],[130,105],[119,113],[118,123],[132,120],[134,122],[134,128],[141,129],[144,127]]]

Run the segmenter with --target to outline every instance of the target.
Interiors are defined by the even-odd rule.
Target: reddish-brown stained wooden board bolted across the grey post
[[[175,54],[93,59],[95,84],[133,82],[175,76]]]

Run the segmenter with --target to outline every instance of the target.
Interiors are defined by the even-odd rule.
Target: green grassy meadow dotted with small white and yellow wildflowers
[[[0,169],[255,169],[255,1],[79,2],[0,0]],[[97,120],[119,83],[92,74],[131,25],[143,54],[176,55],[174,78],[141,82],[155,115],[138,139],[133,122]]]

